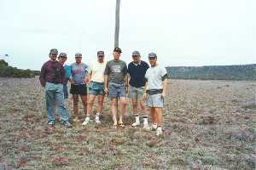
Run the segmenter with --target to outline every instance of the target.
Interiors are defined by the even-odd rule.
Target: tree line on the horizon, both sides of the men
[[[256,81],[256,64],[211,65],[211,66],[168,66],[168,77],[172,79],[236,80]],[[0,59],[0,77],[35,77],[40,71],[22,70]]]

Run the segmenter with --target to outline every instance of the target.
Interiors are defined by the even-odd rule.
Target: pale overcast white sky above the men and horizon
[[[0,55],[40,70],[49,49],[83,62],[103,50],[113,59],[115,0],[0,0]],[[120,59],[154,52],[165,66],[256,63],[255,0],[121,0]]]

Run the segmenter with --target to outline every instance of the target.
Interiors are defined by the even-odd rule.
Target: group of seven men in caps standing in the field
[[[49,52],[49,61],[44,63],[41,69],[40,82],[45,89],[46,111],[48,124],[55,123],[55,107],[57,108],[61,122],[66,127],[72,127],[68,121],[68,112],[65,107],[65,99],[68,99],[67,82],[71,83],[70,94],[73,94],[73,122],[79,122],[79,96],[84,106],[86,116],[83,126],[91,121],[91,112],[97,97],[96,123],[101,123],[102,104],[105,95],[110,99],[113,128],[125,127],[123,117],[126,108],[126,97],[131,99],[135,122],[132,127],[140,125],[138,107],[143,113],[143,128],[154,129],[156,135],[162,135],[162,108],[166,96],[167,72],[166,68],[157,63],[157,55],[148,54],[149,65],[141,59],[138,51],[132,53],[132,61],[126,65],[119,59],[122,53],[120,48],[113,49],[113,59],[106,62],[103,51],[97,52],[97,59],[90,65],[82,62],[82,54],[75,54],[75,62],[72,65],[64,65],[67,54],[53,48]],[[87,87],[89,97],[87,97]],[[117,118],[119,100],[119,119]],[[147,104],[147,106],[146,106]],[[148,109],[147,109],[148,108]],[[151,126],[148,125],[148,113],[150,113]]]

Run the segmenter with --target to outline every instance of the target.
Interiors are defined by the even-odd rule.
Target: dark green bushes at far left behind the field
[[[38,72],[40,73],[40,71],[31,71],[29,69],[22,70],[16,67],[9,66],[9,64],[5,60],[0,59],[0,77],[29,78],[37,76]]]

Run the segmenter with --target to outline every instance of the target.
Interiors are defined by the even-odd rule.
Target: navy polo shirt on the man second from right
[[[148,63],[143,60],[141,60],[141,63],[139,65],[131,62],[128,65],[128,73],[131,77],[129,84],[136,88],[142,88],[143,86],[145,86],[145,74],[148,68]]]

